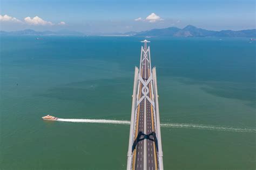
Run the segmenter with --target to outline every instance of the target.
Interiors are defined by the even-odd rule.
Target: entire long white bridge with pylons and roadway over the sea
[[[139,68],[134,72],[127,170],[164,169],[156,68],[151,69],[150,41],[142,42]]]

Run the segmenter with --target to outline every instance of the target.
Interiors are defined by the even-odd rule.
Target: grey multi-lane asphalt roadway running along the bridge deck
[[[142,64],[142,77],[146,81],[149,76],[149,62],[147,60],[143,61]],[[140,84],[140,92],[139,98],[142,97],[142,87],[143,84]],[[149,96],[151,96],[151,83],[147,85],[149,88]],[[152,99],[153,101],[153,99]],[[153,123],[153,107],[151,103],[144,98],[144,100],[139,104],[138,108],[138,117],[137,117],[137,138],[135,139],[135,143],[137,143],[134,152],[136,154],[133,156],[134,168],[135,169],[157,169],[157,151],[156,144],[154,143],[154,123]]]

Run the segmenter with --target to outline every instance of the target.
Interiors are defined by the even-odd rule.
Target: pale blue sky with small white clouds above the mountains
[[[254,0],[1,0],[0,30],[124,33],[194,25],[255,29]]]

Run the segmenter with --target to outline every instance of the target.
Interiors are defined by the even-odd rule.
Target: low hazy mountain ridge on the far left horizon
[[[34,31],[34,30],[22,30],[22,31],[0,31],[0,35],[5,36],[83,36],[83,33],[70,30],[53,31]]]

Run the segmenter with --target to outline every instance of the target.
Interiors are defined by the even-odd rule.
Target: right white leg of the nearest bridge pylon
[[[160,131],[160,116],[159,116],[159,107],[158,107],[158,91],[157,91],[157,73],[156,67],[152,69],[153,75],[153,82],[154,82],[154,95],[156,97],[156,121],[157,121],[157,139],[158,139],[158,162],[159,162],[159,169],[164,169],[163,164],[163,150],[162,150],[162,143],[161,143],[161,131]]]

